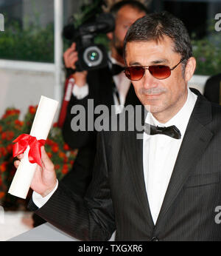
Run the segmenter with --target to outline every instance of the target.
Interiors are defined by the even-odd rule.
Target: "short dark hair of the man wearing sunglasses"
[[[183,64],[192,57],[192,44],[189,33],[183,21],[164,11],[150,13],[138,18],[127,31],[124,38],[124,60],[126,58],[126,44],[132,41],[159,41],[164,36],[169,36],[174,42],[175,53],[180,53],[184,58]]]

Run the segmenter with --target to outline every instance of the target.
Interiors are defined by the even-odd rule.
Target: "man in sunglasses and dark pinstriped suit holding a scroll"
[[[129,116],[125,130],[99,132],[85,198],[56,181],[42,148],[30,208],[80,240],[108,240],[115,229],[116,240],[221,240],[221,108],[187,87],[196,61],[186,28],[166,12],[144,16],[124,56],[148,111],[144,131],[131,130]]]

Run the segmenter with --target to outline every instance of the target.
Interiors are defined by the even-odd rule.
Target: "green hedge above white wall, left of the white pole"
[[[54,61],[54,28],[31,24],[23,28],[18,21],[6,18],[0,35],[0,58],[21,61]]]

